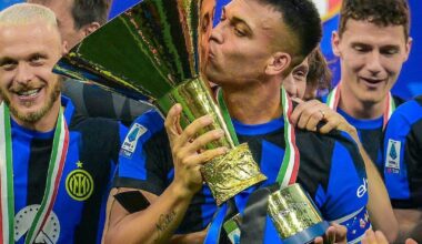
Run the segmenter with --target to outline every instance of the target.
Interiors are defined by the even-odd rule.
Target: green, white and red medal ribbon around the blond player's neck
[[[0,105],[0,191],[1,191],[1,243],[14,243],[14,192],[12,140],[9,108]],[[26,243],[34,243],[39,232],[44,226],[59,190],[64,160],[69,148],[69,131],[60,109],[54,130],[52,152],[47,173],[46,191],[41,206],[27,233]]]

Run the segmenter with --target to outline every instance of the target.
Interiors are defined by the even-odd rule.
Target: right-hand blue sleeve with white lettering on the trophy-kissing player
[[[348,228],[348,242],[356,242],[371,223],[364,162],[349,134],[342,132],[335,140],[331,161],[328,186],[318,189],[316,205],[326,221]]]

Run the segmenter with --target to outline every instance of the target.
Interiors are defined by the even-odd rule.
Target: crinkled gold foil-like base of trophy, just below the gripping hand
[[[267,180],[260,172],[247,143],[230,150],[227,154],[207,162],[201,172],[209,185],[217,205],[239,192]]]

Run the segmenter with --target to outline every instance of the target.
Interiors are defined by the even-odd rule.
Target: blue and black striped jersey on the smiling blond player
[[[104,207],[127,129],[86,119],[62,96],[69,150],[57,200],[37,243],[100,243]],[[17,243],[24,243],[46,189],[54,131],[40,133],[11,121]]]

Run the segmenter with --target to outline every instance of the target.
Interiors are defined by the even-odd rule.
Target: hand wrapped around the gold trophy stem
[[[204,134],[198,133],[212,123],[211,115],[204,115],[194,120],[184,130],[180,126],[182,106],[173,105],[164,122],[169,136],[171,153],[174,163],[174,183],[179,186],[179,194],[193,195],[202,186],[201,165],[209,160],[224,154],[227,148],[203,150],[209,142],[224,136],[222,130],[209,131]]]

